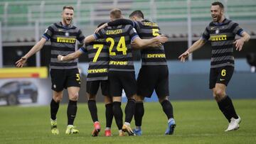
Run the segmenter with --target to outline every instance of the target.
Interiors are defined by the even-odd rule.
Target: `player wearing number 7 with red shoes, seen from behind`
[[[101,26],[104,23],[101,23]],[[99,27],[98,26],[98,27]],[[92,136],[97,136],[100,132],[100,123],[97,116],[97,106],[96,106],[96,94],[101,87],[102,95],[105,99],[105,116],[106,116],[106,128],[105,128],[105,136],[111,136],[111,125],[113,119],[113,111],[112,111],[112,98],[109,94],[109,83],[108,83],[108,68],[109,68],[109,51],[107,48],[107,43],[105,39],[98,39],[92,41],[91,43],[86,43],[80,50],[73,52],[69,55],[58,55],[58,60],[67,61],[67,60],[75,60],[80,57],[82,53],[87,53],[89,57],[89,67],[87,74],[87,83],[86,83],[86,91],[88,98],[88,108],[90,114],[92,116],[92,121],[94,123],[94,129],[92,131]]]

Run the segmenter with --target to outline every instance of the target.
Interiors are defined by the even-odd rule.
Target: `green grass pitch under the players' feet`
[[[97,104],[102,131],[95,138],[86,104],[78,104],[78,135],[65,135],[66,104],[60,104],[57,115],[59,135],[50,134],[50,106],[0,106],[0,143],[256,143],[256,99],[235,99],[233,103],[242,118],[238,131],[224,132],[228,122],[213,100],[172,101],[177,124],[174,135],[164,135],[167,120],[161,105],[145,103],[143,135],[119,137],[113,121],[110,138],[103,136],[104,104]]]

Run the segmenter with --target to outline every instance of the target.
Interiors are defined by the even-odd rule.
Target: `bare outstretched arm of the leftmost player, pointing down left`
[[[20,60],[15,62],[16,67],[23,67],[23,65],[26,63],[28,58],[31,57],[36,52],[38,52],[39,50],[41,50],[45,43],[46,43],[46,38],[41,38],[41,40],[38,41],[38,43],[36,43],[36,45],[34,45],[33,48],[31,48],[31,50],[29,50],[28,53],[26,53],[26,55],[24,55],[23,57],[21,57]]]

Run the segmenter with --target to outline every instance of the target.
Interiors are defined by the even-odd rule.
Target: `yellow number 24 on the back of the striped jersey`
[[[113,38],[107,38],[107,43],[110,42],[110,55],[117,55],[116,52],[112,52],[112,49],[114,48],[114,39]],[[117,44],[117,51],[122,52],[123,55],[127,55],[127,47],[125,45],[125,39],[124,36],[122,36]]]

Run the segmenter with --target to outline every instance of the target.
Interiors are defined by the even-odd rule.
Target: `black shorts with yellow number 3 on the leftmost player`
[[[78,69],[67,70],[50,70],[50,79],[52,82],[52,89],[55,92],[61,92],[67,87],[80,87],[80,74]]]

